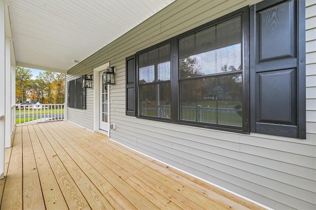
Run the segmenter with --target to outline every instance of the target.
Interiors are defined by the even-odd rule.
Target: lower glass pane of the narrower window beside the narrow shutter
[[[170,83],[140,86],[140,110],[142,116],[168,118],[171,117]]]

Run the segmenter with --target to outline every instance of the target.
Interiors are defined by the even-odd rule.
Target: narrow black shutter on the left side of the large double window
[[[136,62],[135,55],[126,58],[126,115],[136,117]]]

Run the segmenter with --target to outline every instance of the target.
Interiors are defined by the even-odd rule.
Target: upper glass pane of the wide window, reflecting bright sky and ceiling
[[[181,38],[180,78],[241,70],[240,26],[238,16]]]

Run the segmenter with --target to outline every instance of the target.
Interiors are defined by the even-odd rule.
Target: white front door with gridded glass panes
[[[104,85],[102,83],[102,74],[104,71],[99,72],[99,104],[100,104],[100,129],[104,131],[109,131],[109,121],[110,121],[110,104],[109,104],[109,85]]]

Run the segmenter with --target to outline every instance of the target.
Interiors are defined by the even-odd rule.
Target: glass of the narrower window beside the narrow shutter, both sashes
[[[140,115],[171,117],[170,44],[139,55]]]

